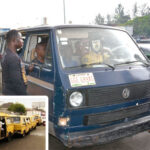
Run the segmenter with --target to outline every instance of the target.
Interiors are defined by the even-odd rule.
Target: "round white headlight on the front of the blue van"
[[[83,95],[80,92],[73,92],[69,98],[72,107],[79,107],[83,103]]]

